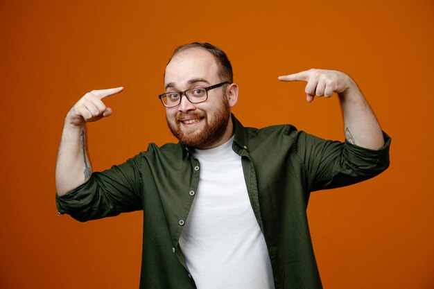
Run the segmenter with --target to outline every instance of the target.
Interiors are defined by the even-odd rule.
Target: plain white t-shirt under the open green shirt
[[[180,246],[199,289],[274,288],[265,239],[254,216],[233,137],[195,150],[200,179]]]

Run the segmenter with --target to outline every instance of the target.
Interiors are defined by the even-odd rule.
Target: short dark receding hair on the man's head
[[[234,82],[234,73],[232,73],[232,64],[229,61],[229,58],[227,58],[225,51],[209,43],[192,42],[189,44],[181,45],[177,47],[175,51],[173,51],[171,59],[168,60],[168,62],[171,62],[173,56],[175,56],[177,53],[192,48],[205,49],[206,51],[211,53],[214,56],[214,59],[216,60],[218,65],[219,68],[218,77],[220,78],[220,80],[222,82],[223,81],[229,81],[230,83]]]

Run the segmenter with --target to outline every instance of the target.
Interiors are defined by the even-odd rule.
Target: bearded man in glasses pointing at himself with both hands
[[[311,69],[306,99],[337,93],[345,143],[291,125],[244,128],[231,114],[238,86],[223,51],[180,46],[166,67],[166,107],[180,140],[92,173],[85,123],[110,116],[85,94],[68,112],[56,166],[60,213],[80,221],[144,211],[141,288],[322,288],[306,218],[311,191],[346,186],[388,167],[383,134],[354,80]]]

